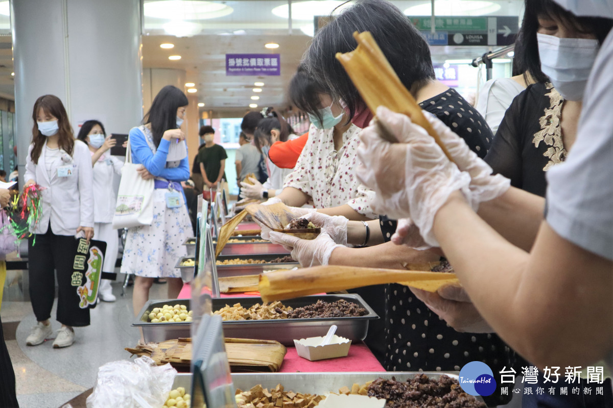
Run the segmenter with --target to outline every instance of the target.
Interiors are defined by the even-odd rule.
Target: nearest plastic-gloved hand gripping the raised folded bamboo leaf
[[[375,124],[362,130],[357,149],[362,164],[356,175],[375,191],[374,212],[411,218],[425,243],[438,247],[432,232],[436,212],[457,190],[470,203],[470,176],[451,163],[432,136],[407,116],[383,106],[377,109],[377,116],[401,143],[381,138]]]

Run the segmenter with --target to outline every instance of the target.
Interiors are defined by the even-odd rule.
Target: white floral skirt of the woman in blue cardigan
[[[145,278],[180,278],[175,268],[177,260],[187,255],[181,245],[192,235],[191,221],[185,199],[181,206],[166,207],[169,190],[153,190],[153,223],[128,229],[121,260],[121,273],[132,273]]]

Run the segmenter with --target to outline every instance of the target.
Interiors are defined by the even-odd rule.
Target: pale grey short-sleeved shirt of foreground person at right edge
[[[547,172],[547,222],[564,239],[613,260],[613,32],[585,88],[577,141]]]

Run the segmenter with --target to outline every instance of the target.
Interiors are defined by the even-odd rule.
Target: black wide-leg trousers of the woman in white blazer
[[[29,293],[34,315],[39,322],[51,317],[55,269],[58,275],[58,322],[74,327],[89,325],[89,309],[79,307],[77,286],[72,286],[74,248],[74,237],[55,235],[51,226],[47,233],[32,235],[28,240]]]

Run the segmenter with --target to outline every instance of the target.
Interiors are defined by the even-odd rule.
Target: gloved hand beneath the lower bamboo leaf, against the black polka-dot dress
[[[462,286],[447,285],[436,292],[427,292],[411,287],[411,291],[457,332],[494,332],[474,307]]]

